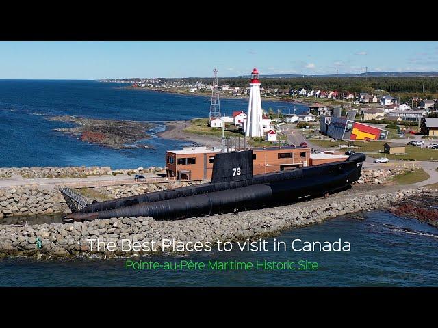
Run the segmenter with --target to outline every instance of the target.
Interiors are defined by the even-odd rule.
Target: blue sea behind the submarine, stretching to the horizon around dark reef
[[[111,166],[114,169],[164,166],[166,150],[188,143],[153,137],[154,149],[104,148],[55,128],[73,126],[50,121],[54,115],[162,122],[206,117],[209,98],[124,89],[126,84],[99,81],[0,80],[0,167]],[[264,108],[292,109],[287,102],[263,101]],[[222,99],[222,113],[245,110],[247,100]],[[297,113],[307,110],[296,104]],[[158,126],[156,130],[164,128]]]

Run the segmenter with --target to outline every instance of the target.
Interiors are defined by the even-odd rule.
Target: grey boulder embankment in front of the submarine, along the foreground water
[[[90,222],[51,223],[32,226],[0,225],[0,257],[28,256],[38,260],[56,258],[112,258],[151,251],[90,250],[90,239],[119,247],[124,241],[161,243],[238,241],[271,236],[281,231],[321,223],[326,219],[366,210],[386,208],[419,195],[426,188],[407,188],[391,193],[368,191],[355,197],[324,202],[301,202],[235,214],[215,215],[179,221],[155,221],[151,217],[119,217]]]

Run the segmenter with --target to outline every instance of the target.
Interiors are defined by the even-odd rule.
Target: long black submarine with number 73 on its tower
[[[292,204],[350,187],[359,180],[365,158],[355,153],[345,161],[253,175],[253,150],[222,152],[214,156],[209,183],[93,202],[63,221],[140,216],[176,220]]]

